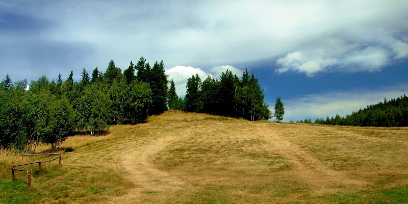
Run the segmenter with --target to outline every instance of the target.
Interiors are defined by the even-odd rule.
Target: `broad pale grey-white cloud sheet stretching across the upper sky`
[[[294,70],[309,76],[326,70],[380,70],[393,60],[408,57],[407,10],[404,1],[370,0],[16,1],[0,7],[0,12],[25,16],[44,26],[24,30],[24,24],[19,24],[23,20],[8,22],[18,29],[2,28],[0,39],[7,40],[0,40],[0,47],[5,47],[0,51],[20,50],[21,45],[31,49],[0,56],[0,67],[24,61],[25,65],[13,68],[34,69],[31,65],[38,58],[30,58],[30,52],[43,46],[30,42],[47,42],[52,46],[41,60],[56,62],[43,68],[55,69],[58,64],[59,69],[76,69],[74,72],[95,66],[103,70],[110,59],[124,68],[140,56],[163,60],[168,67],[210,67],[286,56],[276,61],[282,66],[277,72]],[[61,50],[61,45],[75,48],[56,58],[54,51]],[[360,52],[370,46],[378,49],[376,54]],[[351,56],[354,53],[358,58]],[[344,59],[349,61],[343,63]],[[367,63],[371,59],[379,60]],[[325,63],[330,60],[335,62]],[[37,74],[32,78],[42,73]]]

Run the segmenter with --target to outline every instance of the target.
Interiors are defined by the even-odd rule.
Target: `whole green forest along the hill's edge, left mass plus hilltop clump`
[[[258,79],[246,70],[241,80],[229,70],[202,82],[192,75],[184,99],[167,78],[163,61],[151,66],[144,57],[123,72],[113,60],[105,72],[96,67],[89,74],[84,68],[80,81],[73,80],[73,71],[66,80],[42,75],[30,84],[13,83],[6,75],[0,83],[0,148],[34,152],[42,142],[57,149],[68,136],[141,123],[168,109],[248,120],[272,116]]]

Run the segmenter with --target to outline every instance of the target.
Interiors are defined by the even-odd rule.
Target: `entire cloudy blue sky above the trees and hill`
[[[2,1],[0,79],[163,60],[177,94],[247,69],[283,121],[408,94],[408,1]],[[272,118],[274,120],[274,118]]]

